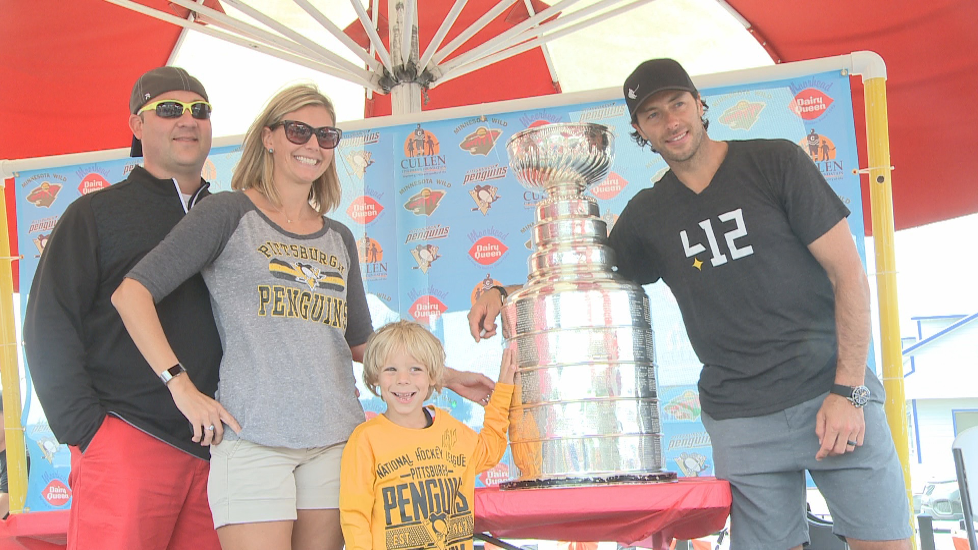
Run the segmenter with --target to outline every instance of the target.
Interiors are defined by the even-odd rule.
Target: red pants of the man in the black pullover
[[[207,461],[114,416],[70,450],[68,550],[220,550]]]

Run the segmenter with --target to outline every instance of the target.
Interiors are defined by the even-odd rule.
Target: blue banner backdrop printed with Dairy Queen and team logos
[[[857,152],[848,76],[833,71],[702,93],[714,139],[779,137],[798,143],[852,210],[850,227],[863,227],[860,180],[853,171]],[[449,366],[495,380],[501,339],[472,342],[466,314],[487,288],[526,278],[533,206],[543,197],[511,176],[505,144],[520,130],[550,122],[600,123],[617,136],[611,172],[588,191],[599,200],[609,228],[628,200],[654,185],[667,169],[658,155],[628,137],[632,128],[622,100],[378,125],[344,134],[335,151],[343,199],[331,215],[358,239],[376,327],[402,317],[418,320],[445,344]],[[239,155],[235,146],[211,152],[203,176],[212,189],[229,188]],[[15,179],[24,256],[22,306],[40,252],[65,207],[120,181],[135,163],[119,159],[62,166],[22,172]],[[863,239],[853,238],[865,262]],[[668,288],[657,283],[646,292],[655,333],[665,468],[681,476],[712,475],[709,436],[699,420],[696,391],[701,365]],[[29,372],[27,380],[29,388]],[[383,410],[382,401],[362,384],[360,392],[368,416]],[[32,391],[27,393],[23,422],[31,467],[26,506],[31,511],[65,509],[70,502],[67,447],[51,433]],[[434,401],[473,428],[481,426],[481,407],[452,391]],[[511,473],[508,455],[480,481],[495,484],[510,479]]]

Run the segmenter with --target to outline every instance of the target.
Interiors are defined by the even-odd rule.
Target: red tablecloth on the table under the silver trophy
[[[715,478],[515,490],[487,487],[475,489],[475,530],[501,538],[607,540],[660,548],[673,537],[690,539],[719,531],[730,508],[730,484]]]

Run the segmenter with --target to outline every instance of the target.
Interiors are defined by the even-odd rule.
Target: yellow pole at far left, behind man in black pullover
[[[0,382],[3,383],[10,513],[20,514],[27,498],[27,465],[21,427],[21,369],[17,363],[17,336],[14,332],[14,279],[7,231],[6,195],[0,189]]]

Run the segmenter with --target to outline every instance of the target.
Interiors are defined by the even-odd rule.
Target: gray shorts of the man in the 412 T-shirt
[[[731,482],[733,550],[785,550],[808,542],[805,470],[825,497],[835,534],[863,540],[911,536],[903,469],[876,385],[864,407],[863,446],[821,462],[815,460],[815,419],[827,393],[765,416],[714,420],[702,413],[717,477]]]

